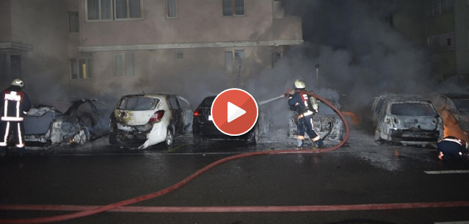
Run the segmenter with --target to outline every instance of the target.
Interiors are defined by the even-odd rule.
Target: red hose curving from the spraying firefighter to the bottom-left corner
[[[330,147],[330,148],[314,149],[314,150],[294,150],[294,149],[291,149],[291,150],[279,150],[279,151],[259,151],[259,152],[242,153],[242,154],[238,154],[238,155],[232,155],[228,158],[223,158],[221,160],[217,160],[215,162],[212,162],[211,164],[203,167],[202,169],[199,169],[194,174],[191,174],[190,176],[186,177],[186,179],[183,179],[179,183],[176,183],[173,186],[170,186],[168,188],[158,190],[155,193],[150,193],[150,194],[147,194],[147,195],[134,197],[134,198],[131,198],[131,199],[128,199],[128,200],[123,200],[123,201],[116,202],[116,203],[113,203],[113,204],[107,204],[107,205],[104,205],[102,207],[94,207],[93,209],[78,211],[78,212],[74,212],[74,213],[71,213],[71,214],[64,214],[64,215],[59,215],[59,216],[40,217],[40,218],[0,219],[0,223],[52,223],[52,222],[59,222],[59,221],[67,221],[67,220],[70,220],[70,219],[73,219],[73,218],[81,218],[81,217],[85,217],[85,216],[91,216],[91,215],[98,214],[98,213],[101,213],[101,212],[104,212],[104,211],[113,210],[113,209],[116,209],[116,208],[119,208],[119,207],[124,207],[124,206],[130,205],[130,204],[135,204],[135,203],[138,203],[138,202],[143,202],[145,200],[150,200],[150,199],[153,199],[155,197],[159,197],[161,195],[165,195],[167,193],[170,193],[170,192],[172,192],[172,191],[174,191],[178,188],[181,188],[181,186],[185,185],[189,181],[192,181],[193,179],[195,179],[195,177],[199,176],[200,174],[202,174],[204,172],[207,172],[207,170],[209,170],[209,169],[211,169],[211,168],[213,168],[217,165],[221,165],[222,163],[228,162],[230,160],[236,160],[236,159],[239,159],[239,158],[246,158],[248,156],[271,155],[271,154],[288,154],[288,153],[325,153],[325,152],[335,151],[337,148],[342,147],[346,143],[347,139],[349,138],[349,124],[346,122],[345,117],[342,115],[342,113],[339,111],[339,109],[337,109],[330,102],[328,102],[327,100],[323,99],[322,97],[314,94],[313,92],[309,92],[309,94],[311,94],[313,97],[316,97],[317,99],[321,100],[326,105],[330,106],[330,108],[332,108],[335,112],[337,112],[337,114],[340,116],[340,118],[344,122],[346,134],[345,134],[344,139],[337,146],[333,146],[333,147]],[[283,97],[283,95],[282,95],[282,97]],[[280,99],[280,98],[281,97],[276,97],[276,99]],[[288,209],[284,209],[284,211],[288,211]]]

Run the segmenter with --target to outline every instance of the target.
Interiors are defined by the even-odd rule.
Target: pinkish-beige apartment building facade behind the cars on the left
[[[281,1],[0,4],[1,87],[23,78],[37,94],[38,84],[69,97],[179,93],[211,83],[243,87],[289,46],[303,42],[301,19],[284,15]]]

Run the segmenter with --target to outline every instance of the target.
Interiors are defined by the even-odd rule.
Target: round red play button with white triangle
[[[220,132],[239,136],[251,130],[258,120],[258,104],[248,92],[228,89],[216,96],[211,106],[214,125]]]

